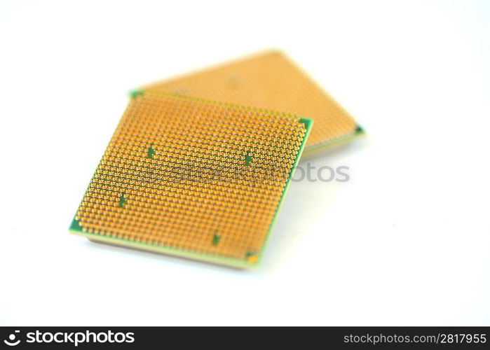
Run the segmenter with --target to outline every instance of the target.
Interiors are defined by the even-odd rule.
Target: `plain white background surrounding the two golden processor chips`
[[[488,1],[2,1],[1,325],[490,325]],[[284,50],[367,136],[240,271],[67,228],[132,87]],[[306,165],[306,160],[301,165]]]

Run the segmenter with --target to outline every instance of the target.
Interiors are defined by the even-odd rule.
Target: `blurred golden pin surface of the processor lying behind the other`
[[[315,121],[305,151],[348,139],[356,123],[332,97],[277,51],[143,87],[283,111]]]

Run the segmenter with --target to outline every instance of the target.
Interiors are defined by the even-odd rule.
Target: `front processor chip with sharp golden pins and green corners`
[[[70,231],[254,266],[311,123],[276,111],[134,93]]]

